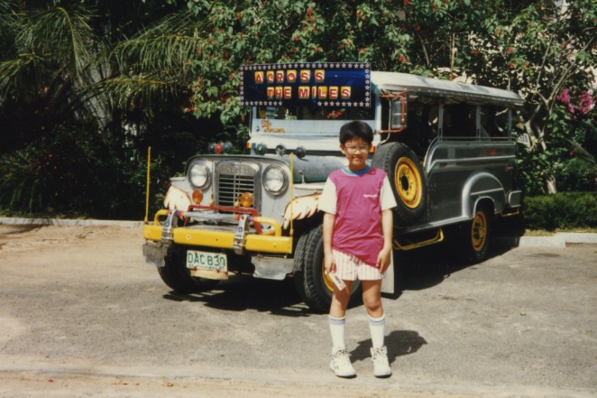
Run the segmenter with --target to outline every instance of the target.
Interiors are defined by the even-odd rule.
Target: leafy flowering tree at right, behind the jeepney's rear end
[[[556,191],[557,172],[566,154],[582,147],[574,132],[583,120],[594,120],[595,21],[597,5],[578,0],[569,4],[536,1],[510,19],[494,16],[483,23],[486,34],[479,45],[490,51],[478,52],[483,65],[481,82],[491,82],[495,70],[507,70],[502,79],[527,100],[520,133],[530,145],[521,148],[520,161],[531,192]],[[583,112],[565,115],[564,108],[557,106],[563,90],[584,98]],[[597,153],[581,152],[594,167]],[[537,186],[537,180],[545,185]]]

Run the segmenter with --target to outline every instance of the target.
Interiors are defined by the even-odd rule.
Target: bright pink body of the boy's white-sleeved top
[[[363,175],[343,170],[329,175],[337,198],[332,247],[372,266],[383,248],[381,187],[385,178],[385,171],[373,167]]]

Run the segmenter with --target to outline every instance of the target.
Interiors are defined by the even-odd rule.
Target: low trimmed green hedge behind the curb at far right
[[[531,229],[597,227],[597,192],[527,197],[522,213],[525,226]]]

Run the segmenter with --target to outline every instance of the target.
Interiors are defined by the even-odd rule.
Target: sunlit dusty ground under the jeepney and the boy
[[[439,264],[384,299],[387,380],[362,307],[347,335],[359,376],[338,379],[326,315],[292,283],[180,297],[141,245],[141,228],[0,225],[0,397],[597,396],[596,245],[411,258]]]

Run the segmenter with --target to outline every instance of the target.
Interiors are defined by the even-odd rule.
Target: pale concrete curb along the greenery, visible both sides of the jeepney
[[[141,228],[143,221],[55,218],[0,218],[0,225],[18,226],[113,226]],[[496,236],[499,245],[520,247],[565,247],[568,244],[596,244],[597,234],[560,232],[553,236]]]

